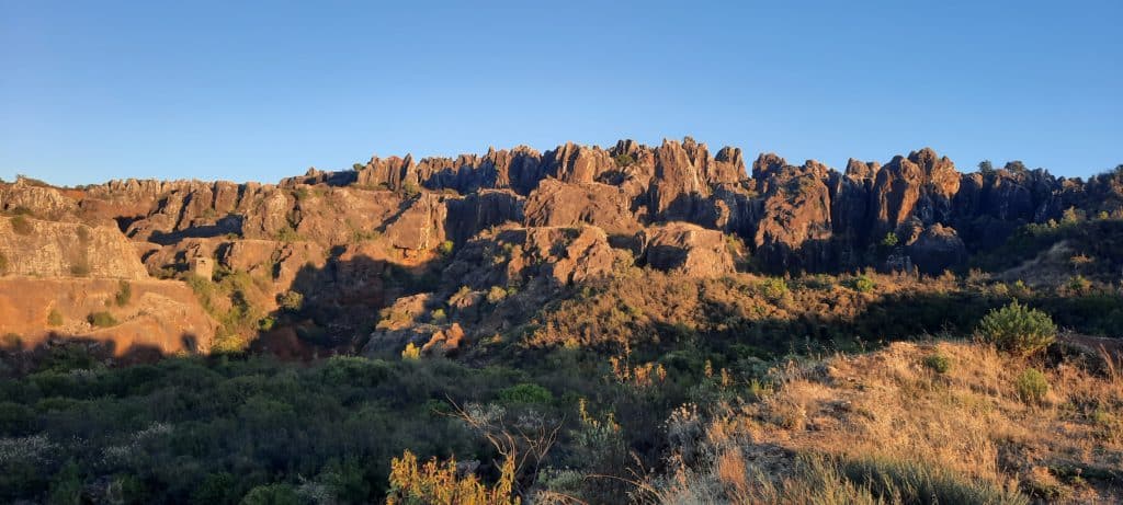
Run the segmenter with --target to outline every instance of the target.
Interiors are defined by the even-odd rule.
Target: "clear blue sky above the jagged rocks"
[[[684,135],[836,167],[1123,163],[1120,0],[467,3],[0,0],[0,177]]]

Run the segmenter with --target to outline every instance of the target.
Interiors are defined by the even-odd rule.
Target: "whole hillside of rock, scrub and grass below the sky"
[[[1123,167],[686,138],[21,177],[0,501],[1111,503],[1121,290]],[[1048,342],[987,340],[1025,306]]]

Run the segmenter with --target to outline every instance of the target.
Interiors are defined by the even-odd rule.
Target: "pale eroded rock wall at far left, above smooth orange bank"
[[[148,277],[136,249],[108,227],[0,217],[2,273],[42,277]]]

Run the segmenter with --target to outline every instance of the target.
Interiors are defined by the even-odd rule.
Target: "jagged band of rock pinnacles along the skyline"
[[[1019,224],[1097,205],[1085,186],[1111,194],[1110,185],[1020,164],[960,173],[926,147],[884,165],[850,159],[841,172],[761,154],[748,171],[741,149],[712,155],[686,137],[658,146],[620,140],[609,148],[566,143],[546,152],[518,146],[456,157],[374,156],[353,169],[309,169],[277,184],[125,180],[62,196],[18,182],[0,185],[0,210],[116,222],[129,239],[158,246],[229,236],[332,247],[383,235],[407,252],[464,244],[497,226],[592,224],[633,236],[690,222],[741,238],[773,272],[886,267],[876,246],[893,233],[906,254],[917,251],[911,264],[926,272],[953,267],[964,255],[910,247],[913,241],[950,232],[967,251],[990,247]],[[935,250],[951,260],[934,258]]]

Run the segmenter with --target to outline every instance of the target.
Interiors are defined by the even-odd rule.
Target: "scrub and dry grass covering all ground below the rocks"
[[[1088,284],[626,267],[456,359],[220,352],[107,367],[60,347],[0,383],[0,490],[52,503],[1119,499],[1119,346],[1087,336],[1119,328],[1123,303]]]

